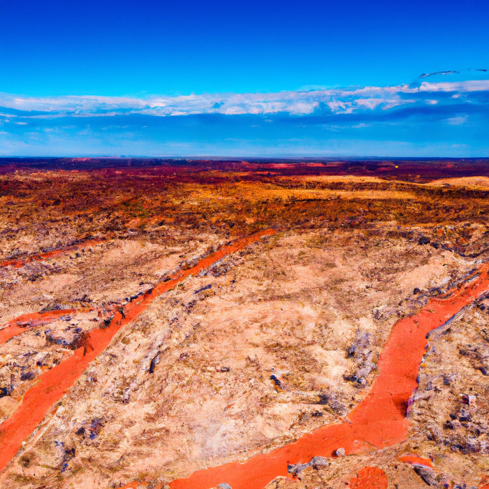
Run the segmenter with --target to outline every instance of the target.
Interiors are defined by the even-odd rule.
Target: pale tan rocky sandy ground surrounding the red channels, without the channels
[[[307,181],[314,178],[319,179]],[[328,184],[379,183],[328,178]],[[472,180],[453,182],[460,184],[481,186]],[[358,200],[364,210],[365,200],[409,204],[418,198],[411,188],[240,185],[207,191],[229,212],[238,210],[226,200],[226,191],[249,202],[280,198],[283,205],[335,194],[354,200],[351,205]],[[189,189],[184,210],[210,205],[207,191],[192,203],[198,191]],[[124,326],[26,439],[1,474],[2,487],[117,488],[136,480],[165,486],[334,423],[369,391],[393,325],[485,260],[484,224],[427,224],[424,218],[406,224],[395,219],[397,214],[362,221],[362,214],[355,214],[348,219],[360,224],[332,226],[351,219],[324,224],[323,208],[316,204],[288,208],[289,221],[281,214],[284,226],[274,236],[187,278]],[[276,210],[263,212],[279,219]],[[312,218],[310,212],[315,212]],[[318,224],[305,226],[301,216]],[[260,219],[259,210],[250,211],[242,225],[256,226]],[[48,242],[68,244],[78,236],[73,222],[62,239],[52,223],[45,224],[49,235],[36,235],[25,225],[16,246],[34,253]],[[0,325],[43,309],[76,312],[26,328],[0,345],[0,388],[8,393],[0,397],[0,421],[17,409],[43,372],[73,354],[76,337],[100,328],[131,297],[238,237],[238,231],[218,224],[214,221],[211,230],[210,225],[179,228],[174,222],[134,235],[131,225],[105,233],[103,242],[86,249],[1,268]],[[155,234],[159,229],[163,236]],[[13,243],[2,242],[3,258],[10,256]],[[440,487],[452,481],[478,487],[489,470],[487,310],[480,300],[447,332],[430,336],[407,441],[333,458],[327,467],[309,467],[297,479],[277,479],[268,489],[344,488],[365,466],[382,469],[389,488],[423,488],[427,483],[414,468],[398,460],[412,453],[432,460]],[[352,355],[360,340],[361,352]],[[466,406],[463,395],[474,396],[472,404]]]

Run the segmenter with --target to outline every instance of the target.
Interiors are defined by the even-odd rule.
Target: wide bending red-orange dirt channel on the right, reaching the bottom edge
[[[331,457],[338,448],[346,455],[364,453],[403,441],[408,436],[407,404],[416,389],[425,354],[426,336],[489,289],[488,265],[483,265],[458,289],[432,298],[415,316],[395,324],[379,358],[379,377],[347,421],[325,425],[294,443],[247,462],[233,462],[194,472],[170,483],[172,489],[209,489],[228,483],[233,489],[263,489],[277,476],[288,476],[287,465]]]

